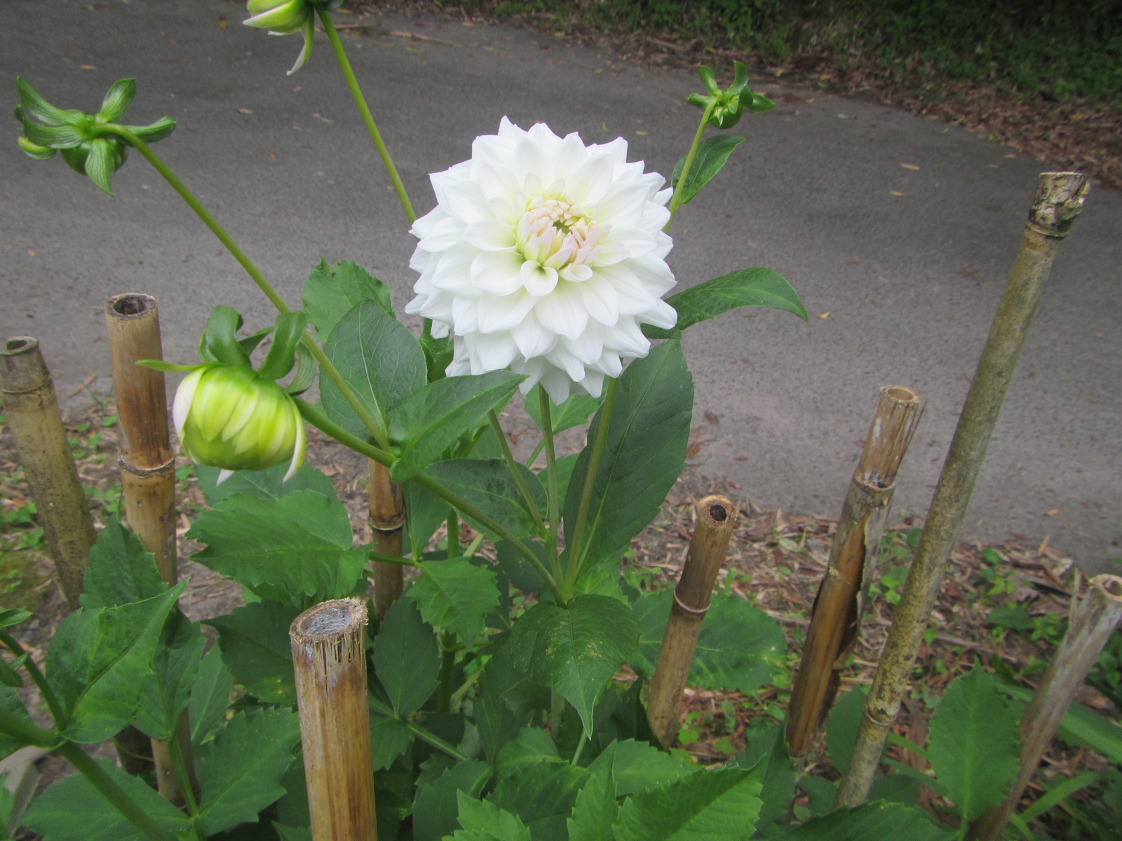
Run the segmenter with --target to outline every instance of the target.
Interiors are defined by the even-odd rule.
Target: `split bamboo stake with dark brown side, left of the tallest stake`
[[[864,593],[872,581],[896,472],[919,425],[919,395],[901,386],[881,389],[849,492],[818,588],[802,662],[791,690],[787,741],[802,756],[834,703],[839,669],[857,644]]]

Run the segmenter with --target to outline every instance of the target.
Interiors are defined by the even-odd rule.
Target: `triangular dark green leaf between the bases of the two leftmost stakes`
[[[159,595],[167,584],[140,538],[112,517],[90,549],[82,588],[83,608],[116,608]]]

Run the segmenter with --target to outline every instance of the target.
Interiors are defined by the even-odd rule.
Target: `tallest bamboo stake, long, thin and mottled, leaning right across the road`
[[[1079,173],[1040,175],[1021,249],[978,359],[865,700],[857,743],[838,786],[835,808],[861,805],[868,796],[1032,315],[1056,252],[1083,209],[1086,192],[1087,178]]]

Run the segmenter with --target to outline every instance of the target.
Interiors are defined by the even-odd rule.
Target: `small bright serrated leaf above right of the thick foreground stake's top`
[[[484,632],[487,616],[499,602],[495,573],[467,557],[422,563],[408,597],[426,622],[452,631],[468,647]]]

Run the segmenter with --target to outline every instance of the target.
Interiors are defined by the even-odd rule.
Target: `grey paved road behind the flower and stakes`
[[[240,26],[223,0],[7,0],[6,101],[26,76],[53,102],[94,110],[136,76],[130,114],[171,113],[158,150],[224,220],[289,301],[322,253],[413,283],[404,219],[316,36],[288,77],[296,37]],[[352,61],[417,209],[426,173],[468,157],[503,114],[586,141],[624,136],[632,158],[668,173],[697,111],[691,74],[613,62],[560,38],[386,17],[347,37]],[[393,31],[416,33],[416,40]],[[692,329],[702,472],[788,510],[835,512],[881,385],[914,388],[928,409],[904,463],[896,515],[922,514],[1043,167],[937,121],[820,92],[757,89],[785,101],[737,130],[727,177],[688,205],[671,265],[690,285],[746,266],[788,277],[809,324],[742,311]],[[156,295],[166,353],[193,359],[210,307],[250,323],[263,299],[137,156],[111,200],[59,160],[0,144],[0,334],[31,334],[58,389],[89,375],[109,388],[100,306]],[[902,165],[907,164],[904,167]],[[1020,533],[1092,567],[1122,556],[1122,196],[1093,188],[1056,262],[965,536]],[[82,398],[76,398],[82,399]]]

